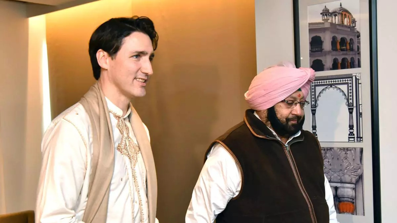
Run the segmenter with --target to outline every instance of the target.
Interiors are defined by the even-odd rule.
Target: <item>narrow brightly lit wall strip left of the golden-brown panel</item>
[[[45,16],[29,18],[29,48],[27,77],[27,110],[25,133],[25,181],[21,210],[35,210],[37,183],[41,168],[41,138],[50,122],[48,86],[43,79],[48,77],[46,66]],[[44,120],[43,120],[44,119]]]

